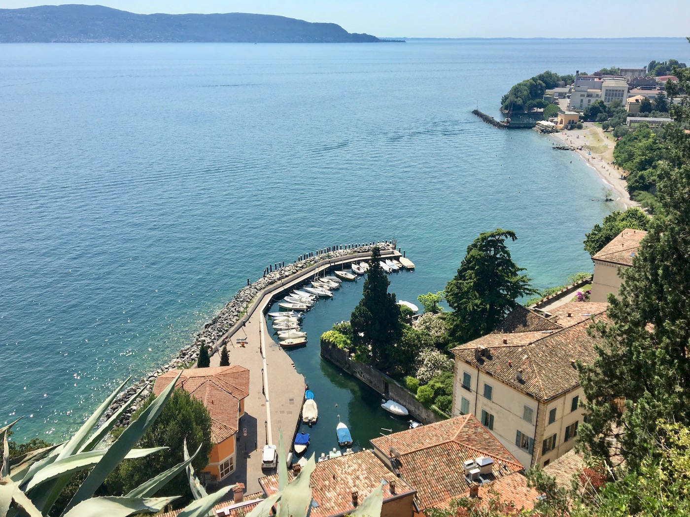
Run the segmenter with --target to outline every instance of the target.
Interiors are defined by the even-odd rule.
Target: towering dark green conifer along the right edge
[[[690,88],[690,71],[676,72]],[[671,110],[676,121],[690,121],[687,100]],[[582,440],[611,462],[617,443],[632,469],[650,455],[658,422],[690,425],[690,140],[676,126],[669,142],[679,166],[660,167],[663,215],[624,271],[619,297],[609,296],[609,322],[592,330],[602,338],[598,359],[581,369],[591,411]]]

